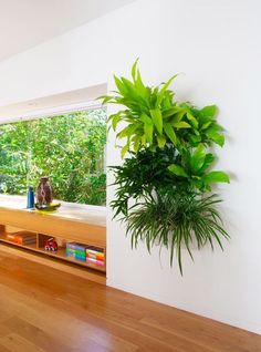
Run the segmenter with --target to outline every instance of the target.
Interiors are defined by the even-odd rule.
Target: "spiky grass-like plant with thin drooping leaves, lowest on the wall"
[[[218,203],[220,199],[216,195],[202,198],[195,193],[174,188],[157,189],[154,195],[145,196],[124,219],[132,245],[137,247],[140,239],[149,252],[155,245],[170,248],[170,263],[176,252],[182,275],[182,247],[192,259],[190,247],[194,241],[198,249],[207,242],[213,249],[213,241],[222,249],[221,239],[229,238],[216,209]]]

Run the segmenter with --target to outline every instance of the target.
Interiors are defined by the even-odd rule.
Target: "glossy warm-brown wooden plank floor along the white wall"
[[[0,352],[260,352],[261,335],[0,251]]]

